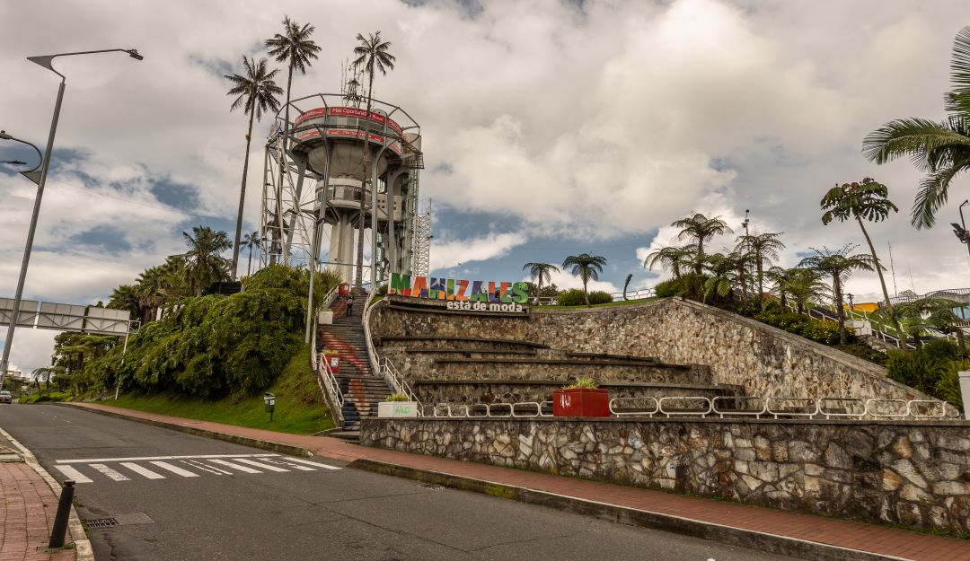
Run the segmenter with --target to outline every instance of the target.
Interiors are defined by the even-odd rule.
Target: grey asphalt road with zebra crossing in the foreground
[[[119,522],[90,530],[98,561],[788,559],[66,407],[0,405],[0,427],[79,481],[82,520]]]

